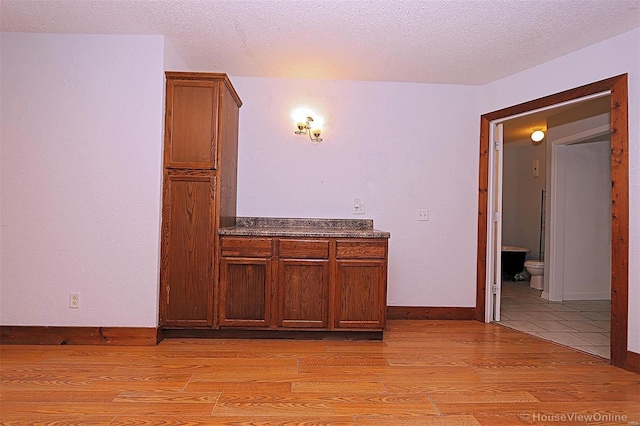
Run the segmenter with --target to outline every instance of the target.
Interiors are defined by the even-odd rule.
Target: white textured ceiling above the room
[[[640,0],[0,0],[14,32],[162,34],[198,71],[484,84],[640,26]]]

